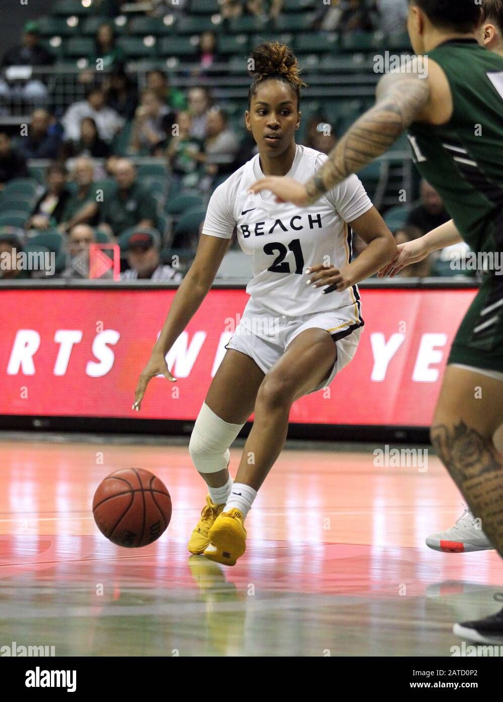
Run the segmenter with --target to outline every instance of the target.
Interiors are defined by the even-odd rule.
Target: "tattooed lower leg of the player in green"
[[[503,463],[491,439],[460,421],[436,424],[431,443],[462,491],[471,512],[503,555]]]

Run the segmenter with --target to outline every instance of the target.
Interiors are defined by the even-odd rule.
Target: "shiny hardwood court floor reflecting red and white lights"
[[[424,545],[462,512],[434,456],[420,472],[376,468],[373,447],[288,444],[246,521],[246,554],[224,568],[186,550],[206,490],[185,439],[1,438],[0,645],[53,645],[57,656],[450,656],[453,621],[501,607],[495,552]],[[232,449],[233,472],[240,456]],[[166,533],[138,550],[109,543],[90,512],[101,479],[129,466],[154,472],[173,498]]]

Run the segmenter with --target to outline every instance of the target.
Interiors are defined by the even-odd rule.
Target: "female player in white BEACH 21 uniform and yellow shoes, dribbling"
[[[259,154],[213,193],[196,258],[140,376],[133,405],[140,410],[154,376],[175,380],[166,353],[208,293],[237,226],[241,249],[251,256],[250,300],[189,443],[209,495],[188,548],[227,565],[245,550],[243,522],[283,448],[293,402],[328,386],[354,357],[363,326],[356,283],[387,265],[397,251],[356,176],[302,210],[278,204],[274,196],[248,194],[257,178],[305,180],[326,160],[295,143],[305,84],[293,53],[281,44],[262,44],[252,58],[245,121]],[[368,244],[352,263],[349,223]],[[233,483],[229,446],[253,411]]]

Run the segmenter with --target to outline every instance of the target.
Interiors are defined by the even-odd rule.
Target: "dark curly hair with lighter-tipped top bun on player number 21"
[[[248,91],[248,110],[253,96],[257,94],[258,86],[269,80],[288,84],[297,97],[297,107],[300,105],[301,88],[307,87],[307,84],[300,78],[299,63],[288,46],[279,44],[278,41],[274,44],[260,44],[253,50],[250,58],[253,60],[253,69],[250,70],[253,81]]]

